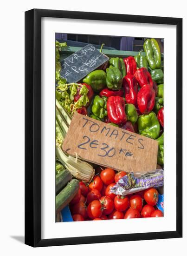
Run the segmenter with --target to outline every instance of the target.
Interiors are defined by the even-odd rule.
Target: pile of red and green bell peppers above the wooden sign
[[[82,85],[91,101],[77,111],[158,141],[158,164],[163,168],[163,63],[158,42],[147,39],[135,57],[110,58],[92,71]],[[74,96],[78,98],[80,95]]]

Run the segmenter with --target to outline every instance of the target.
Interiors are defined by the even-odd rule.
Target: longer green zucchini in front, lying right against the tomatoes
[[[56,195],[56,214],[60,212],[77,194],[79,189],[79,182],[76,179],[71,180],[66,187]]]

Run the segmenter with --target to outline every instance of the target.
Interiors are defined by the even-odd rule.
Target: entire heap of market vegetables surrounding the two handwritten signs
[[[73,221],[163,216],[158,188],[164,176],[164,73],[158,42],[145,40],[136,56],[108,56],[76,83],[60,76],[64,46],[56,42],[56,214],[69,206]],[[157,169],[134,175],[68,155],[62,145],[75,112],[158,141]]]

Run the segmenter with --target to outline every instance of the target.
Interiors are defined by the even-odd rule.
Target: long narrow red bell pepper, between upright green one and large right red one
[[[126,102],[137,105],[138,84],[134,75],[126,75],[123,78],[123,88]]]

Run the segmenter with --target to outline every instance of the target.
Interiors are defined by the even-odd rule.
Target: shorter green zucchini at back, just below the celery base
[[[55,176],[55,194],[64,189],[65,185],[71,180],[71,172],[68,170],[62,170]]]

